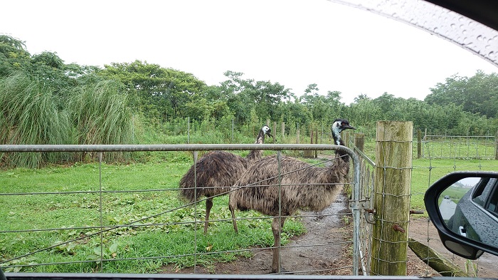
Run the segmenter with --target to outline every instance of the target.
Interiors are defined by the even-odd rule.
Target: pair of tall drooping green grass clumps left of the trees
[[[120,83],[102,81],[73,88],[63,97],[43,81],[22,75],[0,79],[0,145],[129,144],[132,112]],[[75,156],[76,155],[76,156]],[[48,163],[95,160],[88,153],[0,153],[0,167],[42,167]],[[112,152],[108,161],[127,160]]]

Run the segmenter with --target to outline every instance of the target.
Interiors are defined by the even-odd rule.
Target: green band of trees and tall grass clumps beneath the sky
[[[425,100],[359,94],[351,104],[314,83],[296,94],[240,72],[224,75],[218,85],[206,85],[192,73],[145,61],[66,64],[57,53],[31,55],[23,41],[0,35],[0,144],[126,143],[132,115],[156,125],[185,118],[239,127],[272,120],[285,122],[289,132],[339,117],[364,130],[377,120],[410,120],[447,135],[494,135],[498,128],[497,73],[449,77]]]

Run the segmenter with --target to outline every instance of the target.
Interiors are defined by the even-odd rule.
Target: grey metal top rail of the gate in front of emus
[[[328,144],[0,145],[0,152],[142,152],[194,150],[342,150]]]

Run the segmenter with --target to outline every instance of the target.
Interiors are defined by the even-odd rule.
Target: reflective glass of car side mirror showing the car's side
[[[498,247],[498,178],[466,177],[447,187],[438,205],[452,232]]]

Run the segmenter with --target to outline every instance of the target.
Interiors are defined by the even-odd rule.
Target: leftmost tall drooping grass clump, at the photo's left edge
[[[0,80],[0,144],[71,143],[68,112],[43,83],[16,75]],[[0,153],[0,165],[37,167],[58,154]]]

